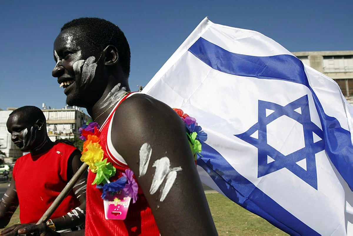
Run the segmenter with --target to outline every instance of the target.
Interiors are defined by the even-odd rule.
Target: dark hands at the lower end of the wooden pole
[[[42,224],[16,224],[0,232],[0,235],[10,236],[18,234],[31,234],[40,236],[58,236],[58,232],[50,229],[45,223]]]

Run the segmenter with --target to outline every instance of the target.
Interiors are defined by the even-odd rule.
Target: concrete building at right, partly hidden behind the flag
[[[304,64],[334,79],[353,104],[353,51],[293,52]]]

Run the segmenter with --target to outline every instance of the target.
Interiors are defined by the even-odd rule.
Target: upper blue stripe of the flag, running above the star
[[[310,87],[301,61],[292,55],[255,57],[231,53],[199,38],[189,52],[215,70],[259,79],[279,79],[303,84],[311,90],[324,132],[325,151],[340,175],[353,191],[353,147],[351,134],[341,128],[335,117],[327,116]],[[338,95],[338,94],[337,94]]]

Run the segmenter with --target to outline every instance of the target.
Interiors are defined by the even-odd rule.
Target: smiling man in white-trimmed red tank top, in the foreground
[[[110,181],[132,171],[138,183],[126,219],[106,219],[89,171],[85,235],[217,235],[185,125],[161,101],[130,93],[130,48],[118,26],[98,18],[66,23],[54,59],[67,104],[85,107],[101,127],[104,159],[116,168]],[[40,225],[19,230],[35,231],[54,235]]]

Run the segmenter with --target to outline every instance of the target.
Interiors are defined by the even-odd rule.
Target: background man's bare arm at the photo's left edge
[[[18,198],[15,181],[12,178],[10,186],[1,199],[0,203],[0,228],[4,228],[18,207]]]

